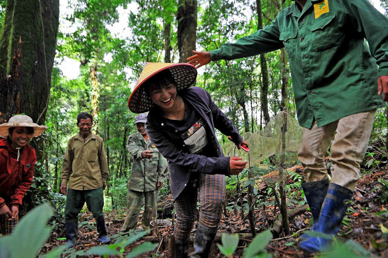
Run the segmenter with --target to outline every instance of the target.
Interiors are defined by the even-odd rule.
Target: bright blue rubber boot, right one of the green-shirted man
[[[348,188],[335,183],[330,183],[326,197],[323,201],[315,232],[323,233],[328,236],[337,235],[339,226],[341,226],[342,219],[348,208],[345,200],[350,199],[352,195],[353,192]],[[309,253],[316,253],[325,251],[331,242],[332,239],[308,237],[305,241],[302,241],[299,246]]]

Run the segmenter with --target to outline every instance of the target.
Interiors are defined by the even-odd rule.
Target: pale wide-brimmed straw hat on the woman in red
[[[8,120],[8,123],[0,124],[0,136],[7,138],[9,132],[8,129],[11,127],[32,127],[33,128],[33,137],[40,136],[44,130],[47,129],[47,126],[39,126],[32,122],[32,118],[28,115],[17,114],[11,117]]]

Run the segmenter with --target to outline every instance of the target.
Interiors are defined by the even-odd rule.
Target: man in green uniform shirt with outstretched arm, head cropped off
[[[375,110],[388,100],[387,28],[388,19],[368,0],[295,0],[264,29],[210,52],[193,51],[188,58],[198,68],[286,48],[298,120],[305,128],[298,158],[305,167],[302,187],[314,231],[339,231]],[[323,158],[335,132],[329,182]],[[331,242],[301,238],[300,246],[308,252],[324,250]]]

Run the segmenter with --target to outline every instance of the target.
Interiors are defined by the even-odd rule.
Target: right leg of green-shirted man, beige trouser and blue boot
[[[336,235],[345,216],[346,200],[352,197],[360,177],[360,163],[371,135],[375,110],[356,113],[339,119],[331,147],[332,180],[323,201],[316,231]],[[311,237],[301,242],[308,252],[326,250],[331,240]]]

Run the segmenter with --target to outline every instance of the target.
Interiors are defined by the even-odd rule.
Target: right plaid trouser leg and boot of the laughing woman
[[[225,199],[225,176],[202,174],[199,183],[201,210],[191,258],[208,258],[217,234]]]

